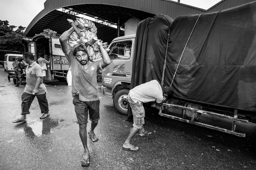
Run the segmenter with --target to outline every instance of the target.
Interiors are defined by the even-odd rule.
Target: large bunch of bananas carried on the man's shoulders
[[[108,42],[102,42],[97,37],[97,28],[94,23],[85,18],[76,18],[75,21],[67,19],[70,25],[74,28],[74,32],[70,35],[69,45],[73,48],[76,44],[81,44],[87,48],[88,56],[92,61],[99,61],[102,59],[102,54],[99,47],[102,45],[104,49],[108,48]]]

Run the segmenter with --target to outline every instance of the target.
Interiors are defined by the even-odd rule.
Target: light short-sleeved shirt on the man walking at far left
[[[26,68],[26,87],[24,90],[25,93],[32,94],[33,90],[35,89],[35,85],[38,77],[42,77],[42,68],[38,63],[33,62],[31,65],[28,65]],[[43,81],[41,81],[37,94],[45,94],[45,93],[47,93],[47,90]]]

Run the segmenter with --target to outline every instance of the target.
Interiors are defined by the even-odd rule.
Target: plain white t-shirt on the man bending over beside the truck
[[[135,103],[153,101],[160,103],[163,100],[163,90],[157,80],[151,80],[150,82],[136,86],[129,91],[129,95]]]

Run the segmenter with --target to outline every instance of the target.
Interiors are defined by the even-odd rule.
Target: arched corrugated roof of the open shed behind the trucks
[[[165,14],[172,18],[186,14],[200,14],[219,11],[233,6],[238,6],[253,0],[222,0],[208,10],[177,3],[172,0],[47,0],[42,10],[26,28],[27,37],[43,32],[44,29],[51,29],[57,34],[62,34],[70,24],[67,18],[76,19],[75,14],[86,14],[90,17],[106,21],[124,28],[124,23],[130,18],[144,20],[154,17],[155,14]],[[69,13],[58,11],[64,8]],[[97,36],[106,42],[110,42],[116,36],[116,28],[96,23]],[[121,34],[122,35],[122,34]]]

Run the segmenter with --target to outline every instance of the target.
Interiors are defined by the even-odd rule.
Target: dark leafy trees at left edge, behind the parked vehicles
[[[9,26],[7,20],[0,20],[0,49],[23,53],[24,46],[21,41],[26,36],[24,33],[25,28],[23,26]]]

